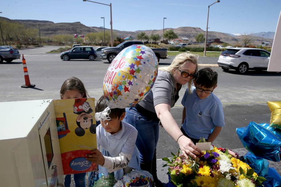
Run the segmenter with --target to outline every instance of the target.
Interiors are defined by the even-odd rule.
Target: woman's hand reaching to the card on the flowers
[[[184,135],[179,137],[177,143],[179,144],[179,148],[182,150],[182,153],[186,158],[188,158],[188,155],[196,158],[196,155],[201,153],[200,149],[194,145],[191,139]]]

